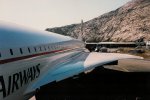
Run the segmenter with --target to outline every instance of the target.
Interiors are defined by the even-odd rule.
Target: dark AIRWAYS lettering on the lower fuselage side
[[[3,93],[3,98],[38,78],[40,75],[39,67],[40,64],[37,64],[35,66],[29,67],[26,70],[14,73],[5,79],[4,76],[0,76],[0,93]]]

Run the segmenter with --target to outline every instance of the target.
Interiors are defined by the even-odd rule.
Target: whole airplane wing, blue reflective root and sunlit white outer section
[[[128,54],[97,52],[84,52],[80,55],[71,57],[71,59],[63,59],[63,62],[58,65],[54,65],[53,69],[45,69],[45,73],[26,90],[26,93],[30,93],[40,86],[50,82],[58,82],[66,78],[73,77],[74,75],[91,71],[96,67],[102,67],[107,63],[128,58],[143,59],[142,57]]]

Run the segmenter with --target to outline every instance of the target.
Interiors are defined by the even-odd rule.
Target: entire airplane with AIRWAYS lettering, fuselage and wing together
[[[0,23],[0,100],[28,100],[41,86],[59,82],[119,59],[143,59],[89,52],[85,43],[52,32]]]

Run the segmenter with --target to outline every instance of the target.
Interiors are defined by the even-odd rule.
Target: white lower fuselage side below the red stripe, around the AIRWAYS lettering
[[[35,89],[31,90],[32,85],[35,83],[40,84],[39,82],[37,82],[38,79],[42,78],[46,73],[48,73],[49,72],[48,70],[53,71],[57,69],[58,67],[55,67],[56,65],[66,63],[67,61],[71,61],[70,57],[72,57],[73,55],[77,55],[78,53],[80,53],[80,51],[70,51],[66,53],[63,52],[0,65],[0,70],[3,70],[2,72],[0,72],[0,76],[1,75],[4,76],[6,92],[8,92],[9,76],[13,76],[14,74],[23,72],[24,70],[27,71],[28,68],[40,64],[39,66],[40,76],[38,78],[35,78],[33,81],[29,81],[27,84],[24,84],[23,86],[20,86],[20,77],[19,77],[19,80],[17,82],[19,89],[16,89],[15,87],[14,92],[10,93],[10,95],[7,94],[6,99],[4,100],[10,100],[11,98],[13,98],[14,100],[26,100],[25,98],[30,97],[30,93],[35,91]],[[12,81],[11,81],[11,90],[12,90]],[[55,79],[51,78],[51,81],[49,82],[52,81],[55,81]],[[3,98],[2,96],[3,96],[2,92],[0,92],[0,100]]]

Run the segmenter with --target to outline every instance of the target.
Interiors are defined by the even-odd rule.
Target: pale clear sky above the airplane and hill
[[[91,20],[131,0],[0,0],[0,21],[45,30]]]

